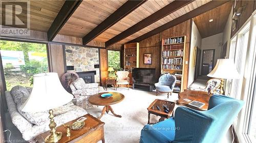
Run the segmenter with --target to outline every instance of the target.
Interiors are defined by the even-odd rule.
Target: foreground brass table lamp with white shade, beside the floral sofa
[[[23,104],[22,111],[40,112],[49,110],[51,134],[45,138],[45,142],[57,142],[62,137],[62,133],[56,132],[52,109],[67,104],[73,99],[73,95],[62,87],[57,73],[39,73],[35,74],[33,78],[33,89],[27,101]]]

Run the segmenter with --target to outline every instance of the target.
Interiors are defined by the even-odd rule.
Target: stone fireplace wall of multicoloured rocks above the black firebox
[[[94,68],[99,64],[98,48],[66,46],[66,64],[74,66],[75,72],[96,71],[95,82],[100,82],[99,68]]]

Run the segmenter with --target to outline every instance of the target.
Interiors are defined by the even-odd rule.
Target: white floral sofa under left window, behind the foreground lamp
[[[21,106],[26,102],[32,89],[20,85],[13,87],[11,91],[6,91],[6,102],[10,112],[12,123],[22,133],[25,140],[32,141],[37,135],[44,133],[49,128],[49,113],[44,112],[23,112]],[[57,126],[75,120],[87,114],[87,111],[69,102],[66,105],[53,109],[54,121]]]

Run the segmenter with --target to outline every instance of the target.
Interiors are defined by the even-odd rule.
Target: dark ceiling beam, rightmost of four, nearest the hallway
[[[198,7],[198,8],[196,8],[196,9],[194,9],[194,10],[192,10],[192,11],[190,11],[190,12],[188,12],[188,13],[186,13],[186,14],[184,14],[184,15],[182,15],[182,16],[180,16],[180,17],[178,17],[178,18],[176,18],[176,19],[174,19],[170,22],[168,22],[168,23],[165,23],[162,26],[159,26],[159,27],[155,28],[154,30],[152,30],[152,31],[140,36],[140,37],[137,37],[134,40],[131,40],[127,43],[142,41],[142,40],[144,40],[148,37],[156,35],[156,34],[162,32],[162,31],[167,30],[168,28],[173,27],[173,26],[175,26],[179,23],[182,23],[182,22],[184,22],[188,19],[194,18],[194,17],[196,17],[196,16],[198,16],[202,13],[205,13],[205,12],[211,10],[211,9],[215,9],[215,8],[225,4],[227,2],[229,2],[229,1],[218,1],[218,0],[216,0],[216,1],[208,2],[205,5],[202,5],[201,7]]]

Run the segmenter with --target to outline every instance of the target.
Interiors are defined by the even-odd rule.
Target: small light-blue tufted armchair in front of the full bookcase
[[[172,95],[174,85],[176,83],[176,76],[172,74],[164,74],[160,76],[157,83],[155,83],[157,93],[167,93],[167,98]]]

